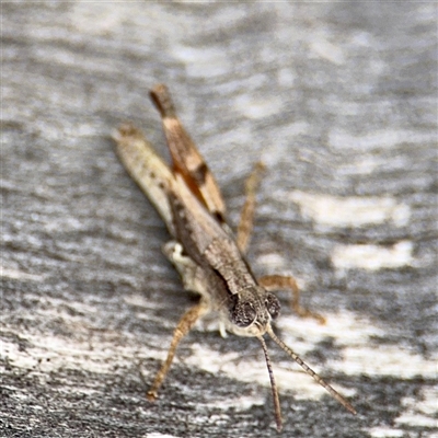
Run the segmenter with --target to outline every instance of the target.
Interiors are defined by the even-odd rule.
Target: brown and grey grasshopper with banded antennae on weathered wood
[[[164,220],[172,241],[164,253],[178,270],[184,288],[200,296],[199,302],[180,320],[168,357],[147,396],[153,401],[169,372],[181,339],[201,316],[217,312],[221,334],[256,337],[265,356],[274,399],[277,430],[283,427],[280,404],[264,335],[297,361],[328,393],[356,414],[354,407],[274,333],[272,321],[280,311],[273,290],[290,289],[292,308],[301,316],[323,318],[299,304],[299,290],[292,277],[278,275],[255,279],[244,254],[249,244],[255,208],[255,192],[263,164],[258,163],[246,181],[246,199],[237,237],[226,221],[222,195],[206,162],[176,116],[168,88],[157,84],[150,97],[159,111],[172,157],[169,168],[142,134],[131,124],[113,135],[117,153],[130,176],[149,197]]]

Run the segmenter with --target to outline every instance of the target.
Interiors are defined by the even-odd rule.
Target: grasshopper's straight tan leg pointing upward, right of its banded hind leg
[[[265,165],[262,162],[256,163],[253,172],[245,182],[246,199],[240,214],[237,237],[238,246],[242,254],[245,254],[247,244],[250,243],[254,221],[255,194],[260,183],[261,173],[264,169]]]

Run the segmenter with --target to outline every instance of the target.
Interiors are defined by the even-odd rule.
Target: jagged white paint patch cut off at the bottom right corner
[[[437,371],[435,369],[435,377]],[[402,401],[406,411],[395,419],[396,424],[419,426],[419,427],[438,427],[438,387],[425,388],[422,390],[417,399],[405,397]]]

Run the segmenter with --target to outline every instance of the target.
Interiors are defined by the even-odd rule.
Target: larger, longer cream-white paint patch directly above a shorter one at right
[[[392,221],[403,227],[411,217],[408,206],[392,197],[338,197],[301,191],[293,191],[289,197],[303,216],[323,226],[361,227]]]

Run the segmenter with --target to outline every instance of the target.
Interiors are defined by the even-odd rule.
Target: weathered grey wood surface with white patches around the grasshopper
[[[110,134],[130,119],[166,155],[160,81],[231,222],[265,161],[250,261],[327,318],[279,293],[277,331],[359,415],[272,345],[283,436],[437,437],[436,20],[433,2],[3,3],[0,436],[277,436],[258,343],[211,324],[145,397],[194,298]]]

